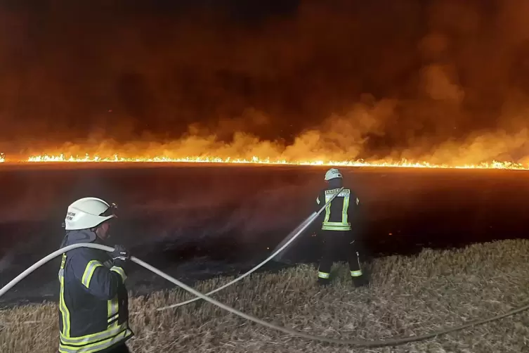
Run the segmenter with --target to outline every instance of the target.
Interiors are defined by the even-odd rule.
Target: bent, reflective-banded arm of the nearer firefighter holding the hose
[[[126,279],[122,267],[108,269],[100,261],[93,259],[90,252],[81,251],[70,260],[75,278],[93,296],[101,300],[110,300],[117,295],[120,285]]]

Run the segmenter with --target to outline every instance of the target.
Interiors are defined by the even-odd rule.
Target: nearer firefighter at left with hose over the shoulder
[[[67,210],[61,248],[75,243],[103,243],[109,237],[116,205],[81,198]],[[63,254],[59,282],[60,353],[129,352],[129,298],[124,285],[129,252],[112,254],[76,248]]]

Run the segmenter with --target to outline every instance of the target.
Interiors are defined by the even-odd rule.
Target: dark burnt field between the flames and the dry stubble
[[[184,281],[237,274],[259,263],[313,211],[327,167],[258,165],[0,166],[0,285],[53,252],[67,205],[98,196],[119,205],[112,243]],[[341,168],[365,209],[365,259],[422,248],[525,237],[529,172]],[[318,260],[308,232],[289,262]],[[51,299],[59,259],[2,302]],[[284,264],[270,263],[264,270]],[[131,289],[167,283],[141,269]]]

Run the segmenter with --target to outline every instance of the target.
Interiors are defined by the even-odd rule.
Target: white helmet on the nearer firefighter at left
[[[90,229],[116,217],[115,204],[109,205],[100,198],[80,198],[68,206],[65,217],[65,229],[77,231],[79,229]]]

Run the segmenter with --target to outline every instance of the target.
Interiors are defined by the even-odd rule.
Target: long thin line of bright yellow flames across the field
[[[6,162],[3,154],[0,154],[0,162]],[[270,160],[269,158],[253,157],[251,159],[241,158],[218,158],[218,157],[184,157],[184,158],[169,158],[166,156],[157,157],[138,157],[126,158],[118,154],[112,157],[101,157],[99,155],[86,154],[84,157],[70,155],[66,157],[61,153],[58,155],[32,155],[27,160],[7,161],[15,163],[46,163],[46,162],[148,162],[148,163],[231,163],[231,164],[254,164],[254,165],[324,165],[324,166],[342,166],[342,167],[402,167],[402,168],[453,168],[453,169],[518,169],[529,170],[528,165],[523,165],[516,162],[483,162],[477,165],[448,165],[448,164],[431,164],[429,162],[410,162],[407,160],[400,160],[398,162],[374,161],[367,162],[365,160]],[[7,164],[6,163],[6,164]]]

